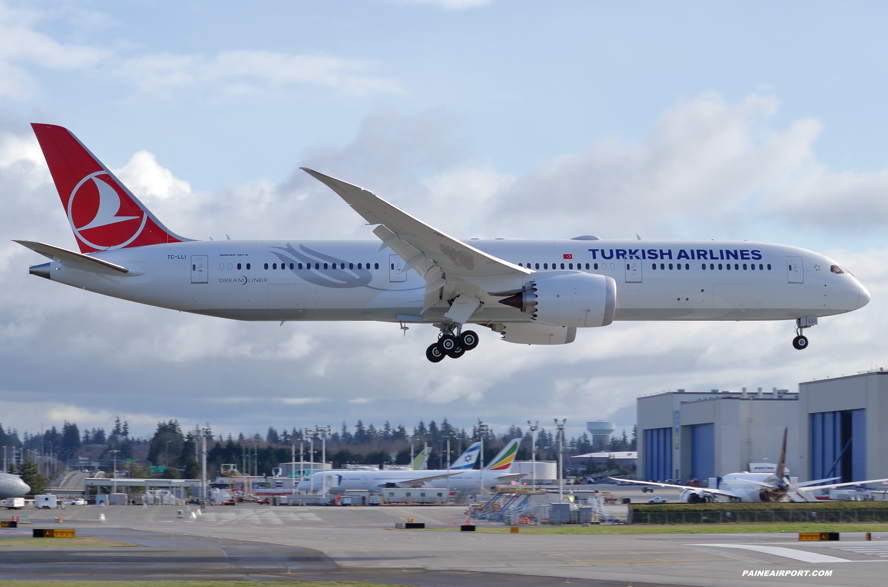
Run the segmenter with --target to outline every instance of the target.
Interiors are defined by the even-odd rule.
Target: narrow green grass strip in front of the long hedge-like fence
[[[520,526],[519,534],[784,534],[797,532],[875,532],[888,542],[888,524],[631,524],[629,526]],[[458,532],[459,528],[425,528]],[[423,530],[405,530],[421,532]],[[508,526],[477,526],[475,532],[510,534]]]

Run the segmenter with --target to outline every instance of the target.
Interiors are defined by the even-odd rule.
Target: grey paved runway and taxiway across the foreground
[[[510,535],[396,530],[408,517],[453,528],[464,508],[211,506],[178,518],[176,506],[71,506],[22,511],[34,527],[76,528],[137,544],[75,548],[2,546],[31,527],[0,530],[8,579],[323,579],[414,585],[883,585],[888,533],[799,543],[797,535]],[[99,513],[106,520],[99,521]],[[874,536],[875,538],[875,536]],[[880,544],[884,539],[886,544]],[[289,573],[288,573],[289,569]],[[762,570],[794,576],[749,576]],[[747,575],[744,575],[744,571]],[[830,571],[830,576],[813,576]]]

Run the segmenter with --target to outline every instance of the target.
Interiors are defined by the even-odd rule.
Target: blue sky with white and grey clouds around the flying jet
[[[640,395],[793,389],[881,366],[888,5],[3,2],[0,422],[267,427],[635,422]],[[872,294],[793,325],[614,323],[543,348],[414,325],[240,323],[28,275],[75,247],[30,122],[71,129],[193,239],[373,239],[299,171],[469,238],[749,239]],[[484,329],[486,331],[486,329]]]

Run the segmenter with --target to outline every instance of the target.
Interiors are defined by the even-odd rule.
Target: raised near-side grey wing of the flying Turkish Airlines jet
[[[337,192],[368,223],[380,225],[373,231],[383,241],[379,250],[391,248],[404,260],[402,271],[414,269],[423,276],[426,297],[436,294],[437,299],[438,290],[448,284],[456,286],[455,294],[465,294],[464,300],[455,302],[454,315],[448,316],[454,322],[463,323],[468,319],[480,302],[486,301],[487,292],[520,290],[524,278],[533,273],[448,236],[373,192],[310,168],[301,169]],[[461,288],[460,281],[467,282],[466,286]],[[474,291],[476,289],[480,291]],[[472,297],[475,299],[470,300]],[[432,305],[428,302],[425,308]]]

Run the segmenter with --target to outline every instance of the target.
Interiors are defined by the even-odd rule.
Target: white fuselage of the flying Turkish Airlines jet
[[[830,270],[836,262],[785,245],[712,240],[467,242],[535,270],[528,282],[562,266],[614,278],[615,320],[789,320],[843,314],[869,301],[867,290],[850,273]],[[237,320],[446,320],[446,304],[423,311],[424,279],[415,270],[401,273],[400,258],[378,248],[373,240],[167,243],[93,255],[123,265],[131,270],[128,275],[102,275],[52,262],[50,278],[124,300]],[[468,322],[530,320],[519,309],[488,303]]]

